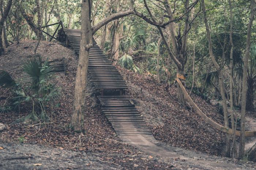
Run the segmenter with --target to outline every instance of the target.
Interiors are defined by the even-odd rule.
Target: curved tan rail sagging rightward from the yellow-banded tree
[[[213,121],[210,117],[207,117],[200,109],[199,107],[197,107],[197,105],[194,103],[194,101],[192,100],[192,98],[188,95],[186,89],[184,88],[184,86],[182,85],[181,81],[179,78],[176,78],[177,83],[180,85],[180,88],[182,90],[182,92],[185,94],[188,102],[192,105],[192,107],[196,110],[197,115],[199,115],[200,117],[202,117],[208,124],[210,124],[212,127],[216,128],[219,131],[228,133],[228,134],[233,134],[233,130],[230,128],[226,128],[218,123],[216,123],[215,121]],[[240,131],[236,131],[236,136],[240,136]],[[254,137],[256,136],[256,131],[245,131],[245,137]]]

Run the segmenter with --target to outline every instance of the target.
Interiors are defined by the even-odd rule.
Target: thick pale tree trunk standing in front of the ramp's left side
[[[84,102],[89,63],[89,50],[93,46],[90,23],[90,0],[82,1],[81,40],[78,67],[76,71],[76,84],[74,96],[74,108],[71,120],[71,128],[75,132],[83,132]]]

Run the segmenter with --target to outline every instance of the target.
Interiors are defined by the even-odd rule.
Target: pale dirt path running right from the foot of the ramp
[[[247,166],[242,162],[234,162],[234,159],[207,155],[200,152],[193,152],[177,147],[167,146],[162,143],[151,143],[148,145],[136,145],[143,151],[152,155],[157,155],[162,159],[174,159],[184,162],[195,169],[255,169],[256,164],[250,163]]]

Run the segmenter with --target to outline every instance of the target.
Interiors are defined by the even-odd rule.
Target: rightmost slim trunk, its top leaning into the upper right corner
[[[243,84],[242,84],[242,101],[241,101],[241,137],[240,137],[240,146],[239,146],[239,158],[245,156],[244,147],[245,147],[245,112],[246,112],[246,92],[247,92],[247,70],[248,70],[248,59],[250,53],[251,45],[251,32],[252,32],[252,23],[255,16],[255,0],[251,0],[251,16],[247,28],[247,38],[246,38],[246,50],[244,58],[244,67],[243,67]]]

